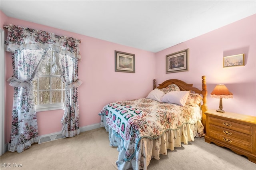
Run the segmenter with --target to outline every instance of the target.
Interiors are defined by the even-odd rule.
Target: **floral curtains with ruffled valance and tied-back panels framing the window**
[[[12,130],[8,150],[22,152],[39,140],[32,81],[42,73],[41,68],[51,55],[49,48],[58,54],[62,61],[60,67],[69,68],[72,72],[71,78],[67,73],[69,70],[62,69],[64,71],[62,79],[66,87],[70,87],[70,93],[67,91],[65,98],[65,119],[62,120],[64,126],[62,131],[69,133],[75,127],[76,131],[65,137],[79,134],[77,91],[82,82],[78,79],[77,73],[78,59],[81,59],[79,51],[81,41],[12,24],[4,26],[4,28],[8,30],[5,45],[6,51],[12,52],[14,72],[13,76],[8,79],[10,85],[14,87]],[[70,63],[69,61],[76,62]],[[73,115],[75,119],[73,119]]]

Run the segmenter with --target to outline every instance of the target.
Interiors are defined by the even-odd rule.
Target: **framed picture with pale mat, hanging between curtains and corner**
[[[115,71],[135,73],[135,55],[115,51]]]

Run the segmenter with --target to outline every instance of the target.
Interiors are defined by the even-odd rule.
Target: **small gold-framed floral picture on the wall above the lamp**
[[[244,54],[223,57],[223,67],[233,67],[242,65],[244,65]]]

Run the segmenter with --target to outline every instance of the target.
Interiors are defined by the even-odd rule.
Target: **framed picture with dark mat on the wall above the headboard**
[[[188,71],[188,49],[166,55],[166,73]]]

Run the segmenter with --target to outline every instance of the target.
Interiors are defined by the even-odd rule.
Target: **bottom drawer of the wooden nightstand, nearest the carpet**
[[[216,140],[222,141],[223,144],[227,146],[235,146],[238,148],[242,148],[243,150],[247,150],[248,152],[252,152],[252,145],[248,142],[244,142],[234,137],[226,136],[222,133],[216,133],[215,131],[209,130],[210,138],[215,138]]]

